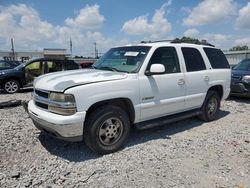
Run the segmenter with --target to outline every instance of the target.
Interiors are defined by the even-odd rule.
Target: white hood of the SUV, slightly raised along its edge
[[[34,87],[36,89],[63,92],[67,88],[78,85],[120,80],[125,79],[126,77],[127,73],[97,69],[80,69],[39,76],[34,82]]]

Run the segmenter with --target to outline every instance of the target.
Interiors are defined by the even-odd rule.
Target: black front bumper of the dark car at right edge
[[[230,95],[250,96],[250,85],[242,82],[232,82]]]

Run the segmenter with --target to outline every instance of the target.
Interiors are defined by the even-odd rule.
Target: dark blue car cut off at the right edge
[[[250,96],[250,59],[244,59],[233,67],[231,95]]]

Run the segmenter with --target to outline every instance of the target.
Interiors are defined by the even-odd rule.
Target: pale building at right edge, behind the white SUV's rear
[[[230,65],[236,65],[238,64],[241,60],[250,58],[250,50],[246,51],[227,51],[224,52],[228,62]]]

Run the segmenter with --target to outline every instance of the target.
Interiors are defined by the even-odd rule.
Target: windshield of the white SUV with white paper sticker
[[[93,68],[128,73],[138,72],[149,50],[149,46],[111,48],[93,65]]]

